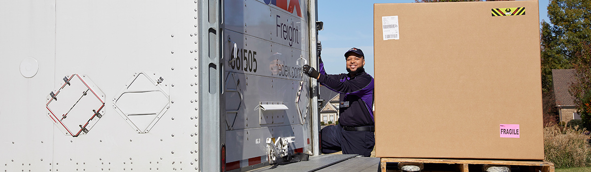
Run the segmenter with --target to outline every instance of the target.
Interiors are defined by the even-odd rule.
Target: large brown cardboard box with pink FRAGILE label
[[[376,156],[544,159],[538,1],[375,4],[374,51]]]

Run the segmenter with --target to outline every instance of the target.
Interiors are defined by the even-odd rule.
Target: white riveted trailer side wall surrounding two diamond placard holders
[[[2,89],[9,98],[0,100],[4,104],[0,129],[11,131],[0,133],[5,138],[0,142],[4,150],[0,169],[200,170],[197,8],[197,1],[0,2],[0,22],[7,24],[0,32],[0,55],[6,57],[0,70],[11,83]],[[33,76],[20,71],[27,57],[38,62]],[[132,75],[142,71],[158,72],[164,78],[160,84],[170,100],[163,103],[170,109],[149,133],[138,134],[116,113],[113,101],[105,100],[113,100]],[[102,118],[79,137],[64,135],[47,118],[48,95],[72,74],[92,78],[105,96]],[[66,87],[81,86],[78,81],[70,84]],[[83,96],[87,87],[79,88],[72,95],[83,98],[77,103],[74,98],[69,102],[76,106],[63,108],[74,107],[72,112],[81,104],[98,108],[98,99],[86,99],[93,94]],[[145,103],[137,98],[125,101]],[[58,105],[53,103],[48,106]],[[84,109],[80,111],[89,111]],[[88,120],[92,109],[89,117],[77,121]],[[65,113],[57,115],[61,114]],[[76,118],[63,120],[71,119]],[[80,130],[79,122],[66,125]]]

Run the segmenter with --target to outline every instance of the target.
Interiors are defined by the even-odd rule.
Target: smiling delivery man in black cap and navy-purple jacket
[[[319,46],[320,47],[320,46]],[[320,57],[320,49],[318,57]],[[363,69],[365,57],[359,48],[345,52],[348,74],[329,75],[320,59],[320,71],[303,66],[304,74],[340,94],[339,124],[321,131],[322,153],[343,151],[343,154],[371,156],[374,149],[374,78]]]

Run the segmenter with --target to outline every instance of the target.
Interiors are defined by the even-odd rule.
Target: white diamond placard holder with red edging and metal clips
[[[47,96],[47,116],[65,135],[86,135],[105,114],[105,94],[87,75],[73,74]]]

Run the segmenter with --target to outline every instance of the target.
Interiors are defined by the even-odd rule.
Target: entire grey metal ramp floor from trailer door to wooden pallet
[[[379,170],[379,158],[358,157],[352,154],[322,154],[311,156],[308,161],[277,166],[262,167],[249,172],[273,171],[363,171],[375,172]]]

